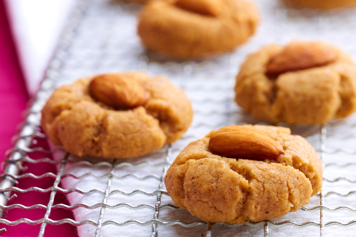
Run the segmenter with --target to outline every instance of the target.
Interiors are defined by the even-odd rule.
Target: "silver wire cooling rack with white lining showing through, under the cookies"
[[[0,223],[6,225],[41,224],[38,236],[44,235],[48,223],[52,225],[70,223],[78,226],[78,229],[87,225],[94,227],[92,234],[95,237],[106,236],[103,228],[108,226],[119,228],[119,231],[124,228],[129,228],[130,231],[135,226],[142,228],[146,226],[149,228],[143,229],[147,231],[146,236],[151,235],[152,237],[158,236],[158,231],[163,236],[241,237],[264,235],[267,237],[271,236],[272,232],[272,235],[275,236],[304,236],[305,233],[308,233],[308,236],[323,237],[333,236],[335,233],[346,233],[345,227],[348,227],[348,230],[352,228],[352,225],[356,223],[354,214],[356,207],[352,207],[356,194],[354,172],[356,166],[356,162],[354,162],[356,158],[356,116],[322,126],[290,127],[293,134],[304,136],[314,146],[324,167],[323,189],[318,195],[312,197],[308,205],[303,206],[295,213],[287,213],[284,217],[274,220],[250,221],[246,225],[210,223],[194,219],[187,210],[174,206],[165,190],[163,178],[166,170],[188,142],[201,138],[211,129],[225,125],[266,124],[244,114],[233,102],[234,77],[248,53],[270,42],[287,43],[292,38],[321,38],[340,45],[351,54],[356,55],[354,44],[356,34],[352,31],[356,27],[354,10],[318,12],[294,9],[278,1],[259,0],[258,3],[263,20],[257,35],[252,37],[250,42],[226,55],[204,60],[177,61],[146,52],[140,45],[136,35],[136,15],[141,8],[140,5],[105,0],[78,1],[59,41],[41,89],[27,111],[25,122],[21,125],[21,132],[14,138],[15,145],[6,154],[5,172],[0,176],[1,216],[13,208],[22,210],[39,208],[46,210],[46,213],[39,220],[22,218],[9,221],[2,218]],[[167,145],[153,155],[143,158],[101,161],[93,161],[89,157],[74,157],[64,152],[61,147],[46,150],[41,146],[36,146],[36,141],[46,140],[45,134],[40,129],[40,113],[54,88],[94,73],[137,69],[146,70],[151,75],[164,74],[168,76],[190,97],[195,116],[191,128],[180,141]],[[277,125],[288,126],[283,123]],[[41,157],[31,158],[31,154],[34,152],[40,152]],[[26,172],[20,174],[26,163],[33,165],[56,164],[57,174],[51,172],[39,176]],[[75,169],[78,164],[84,164],[87,169]],[[67,169],[67,167],[72,168]],[[95,170],[101,170],[103,167],[105,173],[95,173]],[[88,169],[90,172],[87,172]],[[121,173],[118,173],[119,169]],[[83,173],[83,171],[85,172]],[[127,172],[120,175],[124,171]],[[145,172],[148,172],[147,176],[142,177]],[[16,187],[16,183],[21,182],[23,178],[40,180],[46,177],[54,178],[53,186],[47,189],[30,187],[23,190]],[[95,187],[95,189],[83,190],[76,186],[68,189],[63,188],[68,178],[72,179],[70,182],[73,180],[81,182],[86,178],[91,178],[91,181],[94,180],[93,182],[100,181],[104,184],[103,189]],[[132,179],[136,180],[136,183],[130,183]],[[115,186],[115,182],[123,180],[132,185],[133,190],[125,191],[117,188],[117,185]],[[67,184],[70,182],[68,181]],[[141,183],[147,187],[153,184],[156,188],[151,192],[146,191],[139,188],[142,187]],[[50,192],[51,195],[47,206],[41,204],[33,206],[7,205],[14,196],[10,197],[12,192]],[[74,203],[70,206],[53,205],[57,192],[68,194],[67,198]],[[99,195],[102,201],[94,204],[75,202],[75,195],[82,195],[86,198]],[[115,195],[119,195],[115,199],[119,201],[111,204],[108,200]],[[151,203],[142,204],[143,201],[138,205],[129,203],[130,200],[134,200],[136,196],[140,195],[143,199],[138,200],[148,200]],[[150,199],[152,197],[154,201]],[[128,203],[120,202],[120,200],[128,200]],[[80,212],[83,210],[88,215],[96,212],[98,216],[95,220],[62,219],[56,221],[50,218],[51,211],[56,208],[73,210],[76,215],[83,214]],[[138,210],[149,210],[152,211],[152,214],[147,220],[117,221],[113,217],[119,210],[124,211],[120,212],[121,214],[130,210],[133,210],[132,213],[136,213]],[[181,227],[190,228],[182,229]],[[199,228],[195,230],[194,227]],[[299,228],[295,229],[294,227]],[[186,231],[187,229],[189,232]],[[167,232],[167,230],[171,232]],[[274,232],[275,234],[273,234]]]

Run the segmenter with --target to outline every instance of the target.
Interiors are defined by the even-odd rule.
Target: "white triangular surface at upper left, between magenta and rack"
[[[5,0],[30,96],[35,95],[57,45],[73,0]]]

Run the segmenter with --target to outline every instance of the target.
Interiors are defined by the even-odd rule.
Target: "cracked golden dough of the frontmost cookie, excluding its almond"
[[[246,125],[264,131],[285,151],[275,160],[226,158],[209,149],[209,137],[190,142],[169,167],[164,184],[180,208],[210,222],[263,221],[295,212],[322,186],[318,154],[290,129]]]

